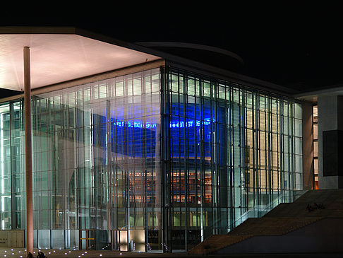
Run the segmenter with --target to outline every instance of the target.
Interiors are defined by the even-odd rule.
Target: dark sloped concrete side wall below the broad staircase
[[[343,218],[323,218],[286,235],[254,236],[216,254],[343,252]]]

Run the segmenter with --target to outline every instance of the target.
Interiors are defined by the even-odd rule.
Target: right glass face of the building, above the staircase
[[[165,76],[166,248],[225,234],[302,189],[301,105],[185,71]]]

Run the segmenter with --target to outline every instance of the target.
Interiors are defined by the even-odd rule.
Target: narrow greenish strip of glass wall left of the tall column
[[[1,230],[25,228],[23,102],[0,105]]]

